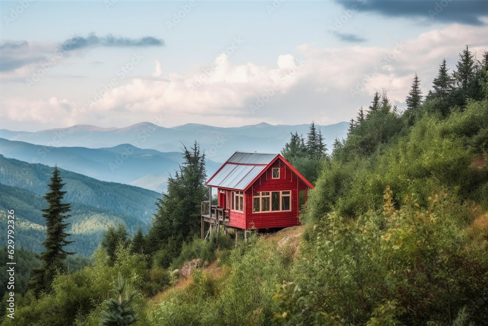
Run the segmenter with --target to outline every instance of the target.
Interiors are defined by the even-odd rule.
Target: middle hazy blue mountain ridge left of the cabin
[[[29,163],[41,163],[102,181],[120,182],[163,193],[169,174],[179,170],[181,152],[159,152],[130,144],[110,148],[48,147],[0,138],[0,154]],[[213,174],[220,163],[206,160]]]

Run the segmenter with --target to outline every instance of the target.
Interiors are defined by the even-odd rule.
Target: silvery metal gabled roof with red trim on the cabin
[[[313,185],[280,154],[235,152],[224,165],[208,179],[207,186],[246,190],[277,159],[281,159],[293,173],[313,189]]]

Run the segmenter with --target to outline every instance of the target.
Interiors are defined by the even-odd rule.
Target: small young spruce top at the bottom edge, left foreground
[[[102,311],[100,326],[127,326],[139,320],[136,316],[136,311],[131,307],[137,291],[123,298],[124,288],[125,283],[119,279],[119,287],[117,288],[119,298],[105,301],[108,308],[107,311]]]

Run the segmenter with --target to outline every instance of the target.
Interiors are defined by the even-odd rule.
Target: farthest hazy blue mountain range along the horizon
[[[336,138],[346,138],[347,122],[319,126],[328,148]],[[53,147],[111,148],[130,144],[140,149],[160,152],[181,152],[182,143],[191,146],[196,140],[207,158],[224,162],[234,152],[278,153],[290,139],[290,132],[298,131],[306,137],[309,125],[269,125],[260,123],[243,127],[212,127],[199,124],[164,128],[142,122],[125,128],[100,128],[76,125],[69,128],[37,132],[0,130],[0,137],[36,145]]]

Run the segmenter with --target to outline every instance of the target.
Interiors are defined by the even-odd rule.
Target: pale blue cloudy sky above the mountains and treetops
[[[488,0],[0,0],[0,129],[329,125],[488,48]]]

